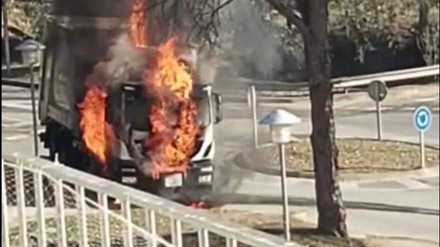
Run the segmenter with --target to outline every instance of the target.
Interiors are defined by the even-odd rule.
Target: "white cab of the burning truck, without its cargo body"
[[[139,81],[130,81],[122,84],[120,91],[110,94],[109,101],[113,104],[106,115],[111,118],[116,112],[121,115],[116,117],[121,120],[122,134],[118,139],[118,145],[113,150],[116,158],[117,176],[115,179],[129,186],[151,191],[166,198],[179,201],[198,198],[212,189],[212,174],[214,166],[215,141],[213,135],[214,124],[222,119],[221,96],[212,92],[211,85],[194,84],[191,99],[196,105],[197,122],[200,126],[199,134],[195,140],[194,151],[186,173],[172,172],[160,176],[159,180],[151,180],[142,173],[139,167],[142,154],[141,142],[149,134],[146,117],[139,112],[148,109],[148,100],[142,94],[143,85]],[[111,99],[120,97],[120,101]],[[142,99],[143,98],[143,99]],[[114,103],[114,102],[120,103]],[[117,104],[115,106],[114,104]],[[111,120],[109,120],[111,122]],[[183,194],[182,194],[183,193]],[[191,199],[193,201],[196,199]]]

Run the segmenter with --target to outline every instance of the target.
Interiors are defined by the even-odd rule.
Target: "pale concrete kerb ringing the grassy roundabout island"
[[[338,139],[364,139],[369,141],[375,141],[374,138],[355,138],[355,137],[343,137]],[[414,142],[409,141],[399,141],[399,140],[392,140],[392,139],[383,139],[382,141],[390,141],[390,142],[400,142],[404,144],[409,145],[417,145]],[[271,146],[274,144],[264,144],[260,145],[258,148]],[[440,150],[439,147],[432,146],[432,145],[425,145],[425,147]],[[265,175],[271,175],[271,176],[279,176],[281,171],[279,169],[270,168],[270,167],[264,167],[264,166],[255,166],[252,162],[249,161],[247,157],[247,153],[250,150],[255,150],[255,148],[246,148],[243,151],[236,154],[233,158],[233,162],[236,166],[239,168],[250,170],[256,173],[261,173]],[[401,171],[401,172],[384,172],[384,173],[363,173],[363,174],[339,174],[339,179],[341,181],[347,181],[347,180],[364,180],[364,179],[372,179],[372,178],[392,178],[392,177],[401,177],[401,176],[411,176],[411,175],[419,175],[420,173],[426,173],[431,171],[438,170],[438,166],[435,167],[429,167],[429,168],[419,168],[415,170],[410,171]],[[303,179],[314,179],[314,172],[298,172],[298,171],[291,171],[287,170],[287,177],[290,178],[303,178]]]

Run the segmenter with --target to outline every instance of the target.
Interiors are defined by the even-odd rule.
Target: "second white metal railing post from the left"
[[[19,218],[20,247],[27,247],[26,199],[24,197],[23,163],[20,161],[15,169],[15,192]]]

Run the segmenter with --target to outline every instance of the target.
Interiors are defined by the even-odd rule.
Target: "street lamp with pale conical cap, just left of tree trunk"
[[[270,112],[259,121],[259,124],[268,125],[270,127],[270,137],[273,143],[278,144],[279,162],[281,163],[281,194],[282,194],[282,216],[284,237],[290,241],[290,221],[288,213],[287,199],[287,174],[285,168],[285,150],[286,143],[291,141],[290,127],[293,124],[301,122],[301,119],[292,113],[278,109]]]

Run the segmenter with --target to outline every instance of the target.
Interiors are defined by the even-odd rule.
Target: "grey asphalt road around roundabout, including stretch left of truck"
[[[418,135],[412,126],[411,112],[416,106],[423,104],[434,110],[432,127],[425,135],[426,143],[438,146],[438,84],[435,86],[437,91],[432,88],[420,89],[415,96],[403,93],[402,97],[390,96],[388,101],[385,100],[382,119],[383,137],[417,141]],[[230,90],[227,86],[225,88]],[[224,91],[223,93],[227,94],[228,92]],[[234,97],[241,95],[244,99],[244,95],[241,93],[235,92]],[[397,91],[390,92],[390,95],[398,94]],[[29,95],[27,89],[2,86],[2,154],[32,153]],[[337,136],[375,137],[375,115],[371,109],[373,105],[371,101],[359,93],[335,97]],[[309,133],[308,99],[298,98],[295,102],[283,105],[260,104],[258,117],[278,107],[289,109],[302,118],[303,122],[293,127],[295,134]],[[250,110],[243,103],[233,102],[225,102],[223,110],[225,118],[215,129],[217,143],[216,188],[218,192],[245,194],[248,195],[249,200],[257,197],[279,197],[280,189],[277,177],[254,174],[241,170],[233,164],[235,155],[243,148],[252,145]],[[262,141],[267,140],[266,128],[260,127],[259,133]],[[42,147],[40,150],[42,154],[46,153]],[[394,186],[390,186],[390,184]],[[395,186],[396,184],[397,186]],[[288,185],[289,196],[293,200],[291,210],[305,212],[306,219],[314,221],[316,214],[313,204],[313,181],[292,178],[288,179]],[[347,207],[350,234],[413,237],[439,241],[438,172],[421,176],[421,178],[392,178],[385,181],[341,183],[341,189],[343,199],[349,202],[348,205],[354,205]],[[300,203],[303,201],[305,203]],[[235,203],[232,201],[226,207],[280,212],[277,206],[240,206],[237,203],[241,203],[240,200]],[[372,210],[371,207],[367,207],[372,203],[380,205],[376,207],[377,209]],[[403,207],[409,207],[409,210],[403,211]],[[390,210],[384,211],[384,208]],[[427,210],[434,213],[423,213]]]

